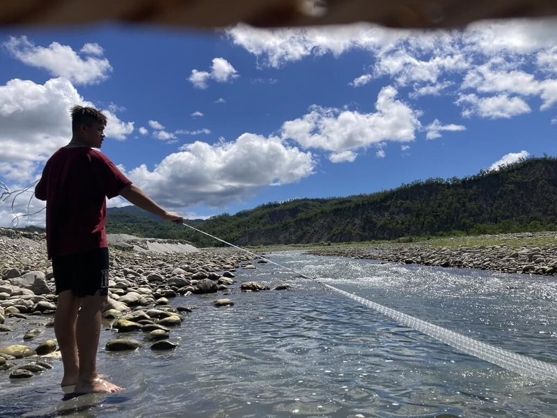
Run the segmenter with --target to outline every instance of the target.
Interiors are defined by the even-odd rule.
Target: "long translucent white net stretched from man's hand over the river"
[[[393,318],[401,325],[405,325],[407,327],[410,327],[412,330],[416,330],[425,335],[431,336],[432,338],[437,339],[438,341],[441,341],[443,343],[446,343],[448,346],[456,348],[457,350],[460,350],[463,353],[472,355],[474,357],[478,357],[492,364],[496,364],[497,366],[501,366],[503,369],[513,371],[515,373],[518,373],[521,376],[526,376],[534,380],[556,380],[557,379],[556,364],[542,362],[538,359],[534,359],[533,357],[528,357],[526,355],[514,353],[510,350],[505,350],[504,348],[495,347],[490,344],[483,343],[481,341],[473,339],[469,336],[464,336],[457,332],[448,330],[447,328],[440,327],[439,325],[428,323],[427,321],[421,320],[419,318],[415,318],[414,316],[403,314],[402,312],[396,311],[395,309],[384,307],[383,305],[378,304],[376,302],[372,302],[363,297],[354,295],[347,291],[343,291],[339,288],[336,288],[335,286],[331,286],[330,284],[323,283],[322,281],[317,279],[317,277],[308,276],[307,274],[298,272],[297,270],[293,270],[292,268],[288,268],[285,265],[275,263],[274,261],[269,260],[268,258],[265,258],[263,256],[260,256],[259,254],[248,251],[247,249],[243,249],[242,247],[238,247],[237,245],[231,244],[230,242],[221,240],[221,238],[215,237],[210,233],[201,231],[201,229],[197,229],[194,226],[190,226],[186,223],[182,223],[182,225],[187,226],[188,228],[193,229],[194,231],[197,231],[199,233],[203,233],[211,238],[214,238],[217,241],[223,242],[226,245],[230,245],[230,247],[234,247],[236,249],[239,249],[240,251],[246,252],[247,254],[251,254],[252,256],[267,261],[267,263],[271,263],[290,272],[294,272],[295,274],[298,274],[300,277],[313,280],[331,289],[332,291],[335,291],[336,293],[340,293],[341,295],[349,297],[355,302],[359,302],[366,307],[369,307],[381,314],[384,314],[385,316],[389,316],[389,318]]]

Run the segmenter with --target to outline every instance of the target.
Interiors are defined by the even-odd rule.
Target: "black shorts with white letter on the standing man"
[[[109,249],[98,248],[79,254],[52,257],[56,295],[72,291],[77,297],[109,291]]]

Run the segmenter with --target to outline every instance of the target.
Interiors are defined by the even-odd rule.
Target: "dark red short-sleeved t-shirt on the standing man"
[[[48,257],[108,247],[107,197],[132,184],[97,150],[60,148],[50,157],[35,188],[47,201]]]

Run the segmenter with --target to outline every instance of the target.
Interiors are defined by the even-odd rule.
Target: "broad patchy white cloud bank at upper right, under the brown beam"
[[[555,18],[485,21],[429,32],[372,24],[282,29],[240,24],[227,34],[256,56],[258,65],[273,68],[308,56],[366,51],[373,70],[347,79],[350,86],[385,79],[384,84],[409,88],[411,99],[467,97],[472,104],[455,102],[464,116],[511,118],[557,103]]]

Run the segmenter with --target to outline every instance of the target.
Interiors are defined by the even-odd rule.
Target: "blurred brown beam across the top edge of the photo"
[[[210,29],[372,22],[395,28],[450,28],[510,17],[557,15],[557,0],[5,0],[3,26],[120,22]]]

